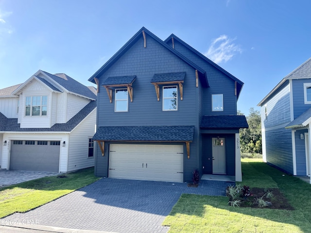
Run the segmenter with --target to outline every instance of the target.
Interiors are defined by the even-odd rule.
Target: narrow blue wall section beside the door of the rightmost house
[[[300,133],[305,135],[308,130],[297,130],[295,132],[295,150],[296,150],[296,171],[297,176],[305,176],[307,174],[306,166],[306,148],[305,148],[305,138],[300,139]]]

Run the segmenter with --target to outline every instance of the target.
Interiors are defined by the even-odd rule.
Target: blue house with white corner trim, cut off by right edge
[[[264,161],[310,177],[311,58],[282,79],[258,106]]]

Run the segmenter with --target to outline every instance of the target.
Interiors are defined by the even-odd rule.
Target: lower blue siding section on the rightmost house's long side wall
[[[293,174],[292,131],[284,128],[265,132],[267,163]]]

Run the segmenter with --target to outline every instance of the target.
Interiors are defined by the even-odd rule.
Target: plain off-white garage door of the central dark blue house
[[[183,182],[183,146],[111,144],[109,177]]]

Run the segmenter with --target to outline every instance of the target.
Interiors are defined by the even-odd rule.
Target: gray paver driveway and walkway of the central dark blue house
[[[161,223],[182,193],[224,196],[227,182],[186,183],[101,179],[35,210],[3,221],[118,233],[165,233]],[[231,183],[232,184],[232,183]]]

